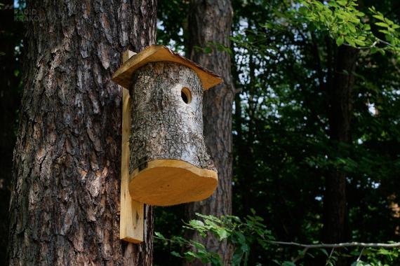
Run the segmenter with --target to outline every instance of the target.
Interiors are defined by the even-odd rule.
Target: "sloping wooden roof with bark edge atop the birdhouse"
[[[124,62],[124,64],[115,71],[114,75],[112,75],[112,81],[129,89],[132,85],[133,73],[139,69],[140,66],[151,62],[175,62],[193,69],[199,76],[204,90],[208,90],[210,87],[224,81],[213,71],[196,64],[186,57],[182,57],[182,55],[179,55],[177,52],[174,52],[164,45],[150,45],[138,54],[133,55],[133,57]]]

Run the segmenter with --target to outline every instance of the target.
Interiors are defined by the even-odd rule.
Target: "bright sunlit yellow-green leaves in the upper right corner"
[[[331,0],[327,4],[320,1],[300,0],[298,9],[300,22],[311,24],[320,31],[328,31],[329,36],[336,40],[338,46],[345,44],[359,49],[370,49],[371,52],[385,53],[385,50],[399,52],[400,25],[377,11],[375,7],[368,8],[373,23],[385,39],[378,38],[371,30],[371,19],[358,10],[356,0]],[[378,47],[378,44],[382,46]]]

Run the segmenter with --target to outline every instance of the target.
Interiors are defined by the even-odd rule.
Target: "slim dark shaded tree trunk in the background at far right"
[[[341,144],[351,142],[352,91],[357,55],[356,49],[340,46],[336,55],[333,82],[328,84],[329,137],[334,155],[338,156],[342,153]],[[322,239],[325,243],[347,240],[346,208],[346,174],[333,170],[326,176]]]

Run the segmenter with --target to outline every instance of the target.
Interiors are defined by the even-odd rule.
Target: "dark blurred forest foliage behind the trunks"
[[[398,24],[400,5],[336,1],[335,8],[328,6],[333,1],[321,3],[334,15],[349,15],[335,33],[326,27],[329,15],[318,16],[315,6],[299,10],[300,2],[307,3],[232,1],[230,51],[239,91],[233,110],[233,214],[243,217],[254,209],[274,237],[284,241],[398,241],[396,34],[393,49],[373,45],[375,38],[390,43],[392,37],[381,32],[382,20],[368,8],[375,6]],[[359,6],[351,9],[352,3]],[[188,6],[187,1],[160,4],[159,43],[187,52],[189,28],[182,13]],[[208,43],[202,49],[224,48]],[[182,219],[182,211],[174,210],[156,209],[156,231],[180,234],[170,221]],[[273,258],[297,252],[258,248],[253,246],[249,265],[270,265]],[[156,246],[155,253],[159,265],[178,263],[165,246]]]

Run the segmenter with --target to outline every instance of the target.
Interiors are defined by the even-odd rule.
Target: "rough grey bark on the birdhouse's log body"
[[[133,80],[131,172],[141,158],[182,160],[215,170],[204,144],[199,76],[187,66],[156,62],[138,69]],[[191,94],[187,103],[182,99],[184,87]]]

